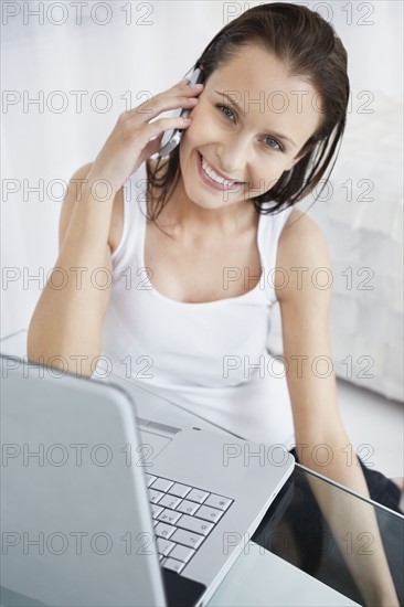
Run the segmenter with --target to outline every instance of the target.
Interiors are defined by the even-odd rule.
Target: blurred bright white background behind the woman
[[[73,172],[120,113],[180,81],[225,23],[259,3],[1,2],[1,338],[29,326]],[[403,476],[403,3],[296,3],[330,21],[349,55],[340,156],[317,202],[299,204],[330,247],[341,408],[352,441]],[[279,354],[272,311],[268,348]]]

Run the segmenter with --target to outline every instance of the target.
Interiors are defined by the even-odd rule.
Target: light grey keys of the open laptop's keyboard
[[[181,573],[233,500],[152,475],[146,475],[162,567]]]

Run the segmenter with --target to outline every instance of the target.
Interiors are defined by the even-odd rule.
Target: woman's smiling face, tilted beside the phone
[[[180,143],[183,188],[213,210],[269,190],[297,162],[322,114],[316,89],[254,45],[211,74],[191,118]],[[220,184],[217,173],[237,183]]]

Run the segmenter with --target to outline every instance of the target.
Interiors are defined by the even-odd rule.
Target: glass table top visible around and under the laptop
[[[13,333],[0,340],[0,351],[3,354],[23,356],[25,340],[25,330]],[[198,423],[201,428],[226,433],[225,428],[212,426],[206,419],[180,407],[172,400],[156,396],[150,390],[135,385],[128,379],[113,375],[108,381],[121,385],[132,395],[137,415],[140,417],[167,424],[194,426]],[[332,504],[332,530],[321,514],[315,494],[321,494],[322,499]],[[372,511],[375,514],[391,575],[400,604],[403,605],[404,518],[311,472],[298,462],[209,605],[312,606],[312,592],[306,598],[304,592],[309,582],[318,583],[319,589],[336,590],[334,595],[331,590],[328,599],[323,599],[319,593],[316,605],[364,605],[347,566],[347,557],[350,558],[355,553],[357,558],[366,560],[374,554],[376,544],[369,530],[358,526],[350,530],[343,523],[343,512],[355,509],[359,504],[361,512]],[[274,576],[274,568],[280,562],[284,563],[281,575],[285,575],[287,563],[286,571],[290,572],[290,576],[277,587],[269,585],[268,588],[268,575],[270,573]],[[290,582],[293,579],[296,587]],[[1,605],[22,604],[38,605],[28,597],[21,603],[20,595],[2,588]]]

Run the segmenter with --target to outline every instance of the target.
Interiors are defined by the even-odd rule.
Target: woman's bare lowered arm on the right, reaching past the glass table
[[[296,210],[291,215],[291,223],[298,215],[300,217],[284,230],[277,258],[277,266],[288,271],[289,284],[286,288],[276,286],[276,291],[296,444],[300,446],[297,447],[299,461],[369,498],[361,468],[349,466],[344,452],[350,441],[340,417],[332,369],[329,336],[331,285],[323,288],[327,276],[332,278],[327,244],[312,220]],[[325,269],[317,271],[318,268]],[[297,280],[299,273],[300,284]],[[319,446],[323,447],[319,449]],[[398,605],[373,509],[360,500],[354,504],[350,500],[350,507],[341,509],[341,503],[336,504],[329,491],[321,492],[318,483],[312,483],[312,490],[366,605]],[[341,541],[347,532],[355,539],[363,532],[370,533],[373,555],[361,555],[359,540],[358,545],[352,546],[352,554],[348,555]]]

